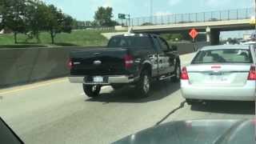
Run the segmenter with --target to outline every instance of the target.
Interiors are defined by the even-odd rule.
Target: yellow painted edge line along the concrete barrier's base
[[[67,82],[67,80],[66,79],[64,79],[64,80],[62,79],[62,80],[58,80],[58,81],[54,80],[54,82],[46,82],[46,83],[42,83],[42,84],[33,84],[35,86],[25,86],[25,87],[15,89],[15,90],[6,90],[6,91],[3,91],[3,92],[0,92],[0,95],[10,94],[10,93],[14,93],[14,92],[22,91],[22,90],[31,90],[31,89],[35,89],[35,88],[38,88],[38,87],[49,86],[49,85],[52,85],[52,84],[55,84],[55,83],[60,83],[60,82]]]

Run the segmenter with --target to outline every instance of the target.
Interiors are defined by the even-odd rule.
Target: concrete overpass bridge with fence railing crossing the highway
[[[218,45],[221,31],[254,30],[255,26],[251,22],[251,17],[254,14],[253,8],[246,8],[131,18],[130,20],[122,20],[122,24],[132,26],[135,33],[188,34],[190,29],[195,28],[206,33],[207,42]]]

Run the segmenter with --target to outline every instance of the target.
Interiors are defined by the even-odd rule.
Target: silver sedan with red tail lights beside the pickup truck
[[[182,68],[181,90],[188,104],[198,100],[255,101],[254,46],[206,46]]]

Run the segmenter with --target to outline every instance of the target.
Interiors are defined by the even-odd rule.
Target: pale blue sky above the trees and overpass
[[[150,0],[42,0],[54,4],[64,13],[80,21],[94,20],[99,6],[111,6],[114,19],[118,14],[130,14],[131,18],[150,16]],[[211,10],[234,10],[254,7],[254,0],[152,0],[153,14],[184,14]],[[253,15],[253,14],[252,14]],[[222,32],[222,38],[241,38],[250,31]]]

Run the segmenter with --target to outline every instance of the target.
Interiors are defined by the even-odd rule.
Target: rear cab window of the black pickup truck
[[[136,47],[152,48],[149,37],[114,37],[110,39],[108,47]]]

